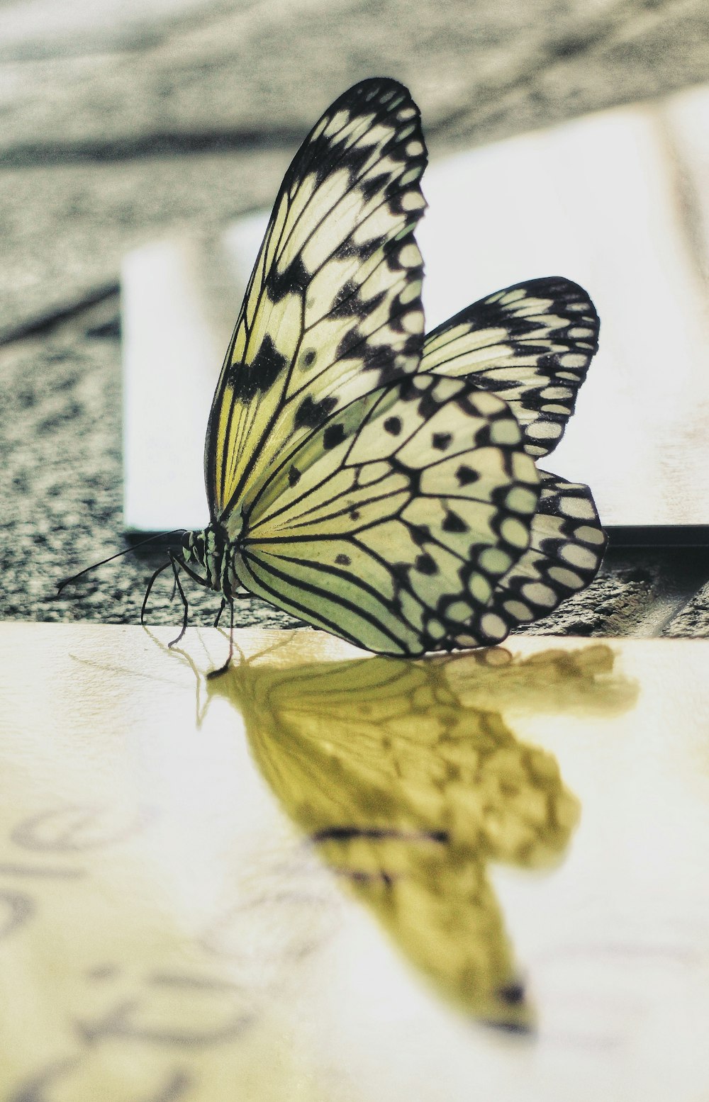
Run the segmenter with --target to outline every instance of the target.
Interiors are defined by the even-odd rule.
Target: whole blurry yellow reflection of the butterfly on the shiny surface
[[[502,712],[617,711],[633,690],[612,666],[605,646],[303,665],[286,645],[207,692],[243,714],[290,818],[409,960],[468,1013],[525,1029],[534,1011],[487,864],[557,862],[579,802]]]

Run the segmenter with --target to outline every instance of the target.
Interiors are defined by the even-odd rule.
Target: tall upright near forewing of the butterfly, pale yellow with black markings
[[[416,104],[376,78],[325,111],[286,173],[207,425],[211,516],[232,538],[284,449],[418,369],[425,166]]]

